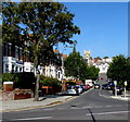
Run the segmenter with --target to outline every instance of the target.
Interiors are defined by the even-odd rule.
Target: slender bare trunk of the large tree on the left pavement
[[[39,81],[40,81],[40,71],[37,68],[37,81],[36,81],[36,88],[35,88],[35,101],[39,100]]]

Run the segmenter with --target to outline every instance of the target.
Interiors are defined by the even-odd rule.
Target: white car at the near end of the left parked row
[[[70,85],[67,87],[67,90],[65,93],[66,95],[79,95],[78,87],[75,85]]]

